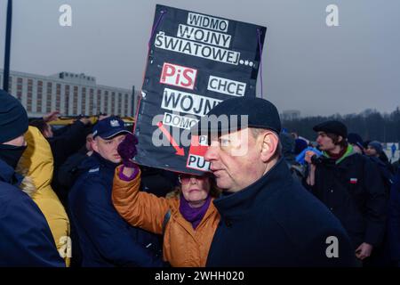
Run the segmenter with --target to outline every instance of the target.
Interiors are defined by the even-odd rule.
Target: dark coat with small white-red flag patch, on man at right
[[[380,169],[361,154],[349,151],[343,159],[324,159],[316,165],[309,189],[337,216],[354,248],[366,242],[380,245],[386,224],[387,197]]]

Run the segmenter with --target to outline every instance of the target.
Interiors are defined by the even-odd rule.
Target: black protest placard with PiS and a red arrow
[[[267,28],[156,5],[135,134],[140,165],[207,171],[190,127],[218,103],[255,96]]]

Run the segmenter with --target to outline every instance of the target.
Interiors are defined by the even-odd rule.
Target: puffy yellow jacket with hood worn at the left
[[[30,190],[26,192],[44,214],[60,256],[69,266],[71,257],[69,219],[60,199],[52,190],[53,159],[50,144],[34,126],[28,127],[25,139],[28,148],[22,154],[17,169],[28,177],[24,182],[27,184],[26,188]],[[33,183],[30,187],[27,183],[29,180]]]

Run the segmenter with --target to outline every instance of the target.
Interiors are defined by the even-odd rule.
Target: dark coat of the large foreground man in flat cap
[[[355,257],[339,220],[280,159],[242,191],[214,200],[220,224],[207,266],[350,266]],[[332,238],[334,237],[334,238]],[[331,256],[331,239],[339,257]]]

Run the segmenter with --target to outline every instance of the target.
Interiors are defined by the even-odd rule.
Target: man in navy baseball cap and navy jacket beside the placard
[[[121,118],[108,117],[93,126],[92,134],[92,156],[80,165],[80,175],[68,195],[82,266],[164,265],[158,236],[127,224],[111,200],[114,172],[122,161],[117,147],[132,133]]]

